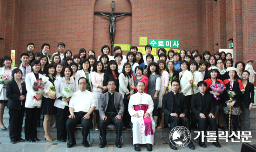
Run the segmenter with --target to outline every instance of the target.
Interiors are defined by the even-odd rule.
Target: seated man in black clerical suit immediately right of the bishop
[[[184,95],[178,92],[180,88],[180,83],[178,80],[173,80],[171,82],[172,91],[168,94],[163,95],[162,98],[162,111],[164,113],[164,124],[171,124],[171,128],[175,128],[179,126],[181,123],[182,126],[186,127],[190,130],[189,119],[186,117],[188,109],[186,108]],[[171,139],[171,142],[174,141]],[[190,149],[195,149],[193,142],[189,143]],[[177,150],[177,147],[170,143],[170,147],[173,150]]]

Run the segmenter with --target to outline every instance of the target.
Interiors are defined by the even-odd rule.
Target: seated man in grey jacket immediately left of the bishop
[[[108,80],[108,92],[101,95],[99,102],[99,113],[101,117],[100,132],[101,132],[101,144],[100,148],[107,145],[107,127],[112,123],[115,125],[116,140],[115,145],[121,148],[121,134],[122,134],[122,115],[124,111],[122,94],[115,92],[116,81]]]

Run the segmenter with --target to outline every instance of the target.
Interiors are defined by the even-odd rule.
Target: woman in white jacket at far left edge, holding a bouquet
[[[0,68],[0,75],[3,74],[10,74],[9,79],[12,80],[12,71],[15,69],[14,67],[11,66],[12,64],[12,58],[9,56],[4,56],[1,59],[1,63],[3,63],[3,67]],[[3,82],[0,82],[0,128],[2,130],[5,130],[6,127],[3,123],[3,116],[4,116],[4,110],[5,110],[5,105],[8,101],[8,98],[6,97],[6,84]]]

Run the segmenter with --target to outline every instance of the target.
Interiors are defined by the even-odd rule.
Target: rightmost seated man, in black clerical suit
[[[197,83],[199,92],[195,95],[192,95],[191,99],[191,111],[195,114],[195,121],[198,123],[199,131],[204,131],[206,135],[206,124],[209,123],[210,131],[216,131],[216,136],[218,137],[217,123],[214,116],[214,100],[213,96],[206,93],[207,83],[200,81]],[[202,142],[202,133],[199,136],[199,146],[207,147],[204,142]],[[221,147],[216,138],[216,142],[213,143],[216,147]]]

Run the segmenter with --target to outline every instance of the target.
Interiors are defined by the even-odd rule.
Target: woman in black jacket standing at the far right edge
[[[241,131],[248,131],[250,129],[250,110],[252,109],[252,105],[254,104],[254,85],[249,82],[249,71],[245,70],[242,72],[242,78],[243,78],[243,87],[245,91],[242,95],[242,105],[241,110],[243,111],[242,114],[240,114],[240,123],[241,123]]]

